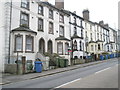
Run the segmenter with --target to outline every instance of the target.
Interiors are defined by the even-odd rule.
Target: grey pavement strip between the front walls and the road
[[[115,60],[115,59],[117,60],[118,58],[113,58],[113,59],[108,59],[108,60]],[[48,70],[48,71],[42,71],[41,73],[28,73],[28,74],[23,74],[23,75],[12,75],[12,74],[2,73],[2,77],[0,77],[0,79],[2,79],[2,82],[0,82],[0,85],[15,83],[15,82],[20,82],[20,81],[40,78],[40,77],[44,77],[44,76],[48,76],[48,75],[53,75],[53,74],[57,74],[57,73],[65,72],[65,71],[75,70],[78,68],[107,62],[108,60],[73,65],[73,66],[69,66],[69,67],[65,67],[65,68],[57,68],[57,69],[52,69],[52,70]]]

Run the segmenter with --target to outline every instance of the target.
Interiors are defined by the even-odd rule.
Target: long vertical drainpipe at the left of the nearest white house
[[[10,64],[10,44],[11,44],[11,19],[12,17],[12,0],[10,1],[10,25],[9,25],[9,51],[8,51],[8,64]]]

